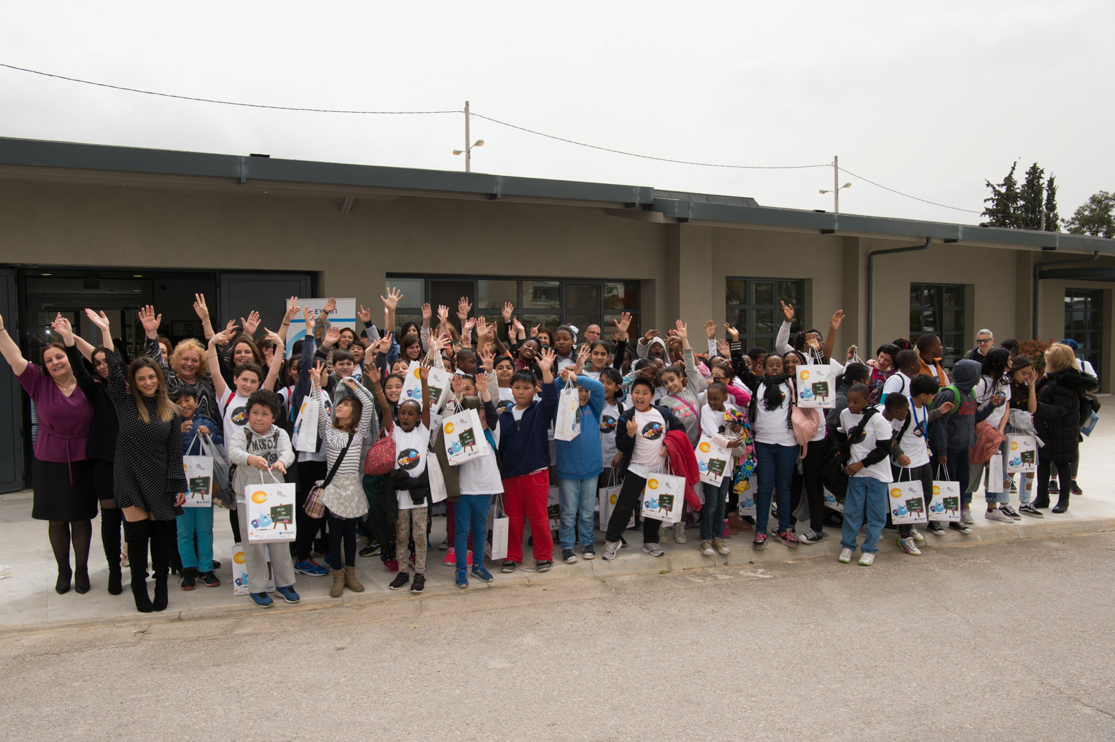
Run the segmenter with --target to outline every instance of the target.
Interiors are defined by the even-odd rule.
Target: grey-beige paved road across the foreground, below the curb
[[[11,740],[1111,740],[1115,533],[0,637]]]

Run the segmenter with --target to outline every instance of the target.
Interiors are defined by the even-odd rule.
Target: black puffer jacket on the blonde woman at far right
[[[1077,456],[1080,425],[1090,414],[1082,404],[1085,394],[1098,388],[1095,376],[1065,368],[1038,379],[1038,408],[1034,428],[1041,439],[1041,455],[1069,462]]]

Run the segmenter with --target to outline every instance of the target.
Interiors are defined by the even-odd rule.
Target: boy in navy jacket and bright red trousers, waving
[[[514,406],[500,414],[497,445],[500,475],[503,478],[503,508],[507,514],[510,534],[507,558],[503,571],[513,572],[523,561],[523,527],[531,521],[534,537],[535,569],[553,567],[554,543],[550,538],[550,422],[558,413],[558,388],[551,368],[553,350],[537,358],[542,370],[542,401],[534,399],[537,379],[531,372],[516,372],[511,377]]]

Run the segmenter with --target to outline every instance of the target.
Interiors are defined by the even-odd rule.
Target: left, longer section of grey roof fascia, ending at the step
[[[512,177],[486,173],[384,167],[343,163],[145,150],[71,142],[0,137],[0,163],[77,170],[263,180],[327,185],[359,185],[449,193],[492,199],[524,196],[618,203],[649,208],[655,189],[640,185]]]

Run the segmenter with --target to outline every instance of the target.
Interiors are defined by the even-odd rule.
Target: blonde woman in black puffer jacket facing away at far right
[[[1094,376],[1076,368],[1076,355],[1063,343],[1054,343],[1046,350],[1046,373],[1037,383],[1037,409],[1034,428],[1041,447],[1038,449],[1038,494],[1035,508],[1049,507],[1049,469],[1057,464],[1060,492],[1053,512],[1068,510],[1073,464],[1079,455],[1080,425],[1090,414],[1085,404],[1088,392],[1098,388]]]

